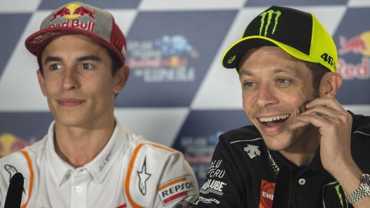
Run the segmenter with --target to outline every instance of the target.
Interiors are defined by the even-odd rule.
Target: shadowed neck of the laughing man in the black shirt
[[[317,148],[320,146],[321,135],[318,128],[314,127],[312,131],[304,135],[297,140],[296,144],[279,151],[282,156],[297,166],[307,166],[310,164],[316,154]]]

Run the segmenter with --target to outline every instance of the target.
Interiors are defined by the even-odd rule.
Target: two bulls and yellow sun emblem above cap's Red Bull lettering
[[[56,13],[52,14],[52,18],[50,22],[53,22],[57,17],[64,17],[66,19],[76,19],[79,16],[88,16],[91,19],[95,20],[95,10],[87,10],[83,8],[83,6],[77,3],[71,3],[68,6],[62,8],[61,10],[57,11]]]

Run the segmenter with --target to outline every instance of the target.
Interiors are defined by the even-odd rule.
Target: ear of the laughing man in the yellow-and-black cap
[[[320,82],[320,96],[323,98],[334,97],[341,84],[341,74],[336,72],[326,73]]]

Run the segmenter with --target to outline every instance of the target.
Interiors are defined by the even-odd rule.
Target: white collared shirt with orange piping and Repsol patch
[[[25,178],[21,207],[174,207],[198,198],[183,155],[121,126],[93,161],[72,168],[54,149],[54,123],[39,142],[0,159],[0,207],[11,177]]]

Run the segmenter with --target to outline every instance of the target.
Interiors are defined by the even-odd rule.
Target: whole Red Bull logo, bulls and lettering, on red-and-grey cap
[[[94,31],[95,23],[91,21],[81,20],[78,17],[87,16],[90,19],[95,19],[95,10],[88,10],[77,3],[71,3],[68,6],[62,8],[56,13],[52,14],[50,22],[53,22],[57,18],[67,19],[67,22],[62,24],[50,24],[50,28],[54,27],[74,27],[78,29],[85,29],[88,31]]]

